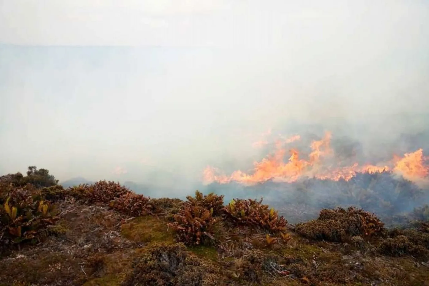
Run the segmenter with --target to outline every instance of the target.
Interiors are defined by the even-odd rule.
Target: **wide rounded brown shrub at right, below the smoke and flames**
[[[321,210],[318,219],[299,223],[295,230],[302,236],[333,242],[349,241],[352,236],[372,237],[382,234],[384,224],[377,216],[349,207],[347,210]]]

